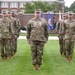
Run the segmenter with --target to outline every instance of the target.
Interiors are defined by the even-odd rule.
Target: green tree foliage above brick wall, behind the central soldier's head
[[[26,3],[24,5],[25,13],[34,13],[34,10],[37,8],[40,8],[44,12],[48,11],[58,12],[60,7],[58,3],[49,4],[47,2],[40,2],[40,1],[33,3]]]

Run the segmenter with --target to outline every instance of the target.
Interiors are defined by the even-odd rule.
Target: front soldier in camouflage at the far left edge
[[[13,34],[12,24],[7,18],[7,14],[3,13],[2,19],[0,19],[0,50],[3,60],[7,60],[10,55],[10,32]]]

